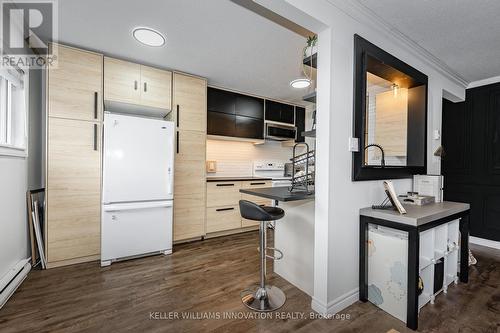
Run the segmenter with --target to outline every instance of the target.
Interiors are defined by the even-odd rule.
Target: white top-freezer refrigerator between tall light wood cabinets
[[[105,113],[101,266],[172,253],[174,124]]]

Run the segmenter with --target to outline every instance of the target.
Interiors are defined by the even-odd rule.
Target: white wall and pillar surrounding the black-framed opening
[[[422,57],[425,52],[408,44],[388,27],[376,22],[355,1],[283,0],[321,22],[319,32],[318,115],[316,158],[316,216],[313,309],[336,312],[357,300],[359,209],[384,197],[381,181],[352,182],[352,153],[347,149],[353,127],[354,34],[393,54],[429,77],[428,172],[439,173],[440,161],[432,154],[440,140],[443,92],[465,98],[465,87]],[[293,16],[293,13],[291,14]],[[418,52],[417,52],[418,51]],[[398,192],[411,189],[411,180],[394,181]]]

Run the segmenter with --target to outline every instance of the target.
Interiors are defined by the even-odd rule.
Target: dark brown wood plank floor
[[[104,269],[94,262],[32,271],[0,310],[0,332],[412,332],[369,303],[343,311],[349,319],[310,319],[310,297],[274,274],[271,282],[288,299],[272,319],[165,318],[169,312],[255,315],[243,307],[239,293],[258,279],[257,236],[179,245],[168,257]],[[478,264],[471,268],[470,283],[451,287],[435,305],[425,306],[420,331],[500,332],[500,251],[472,248]],[[161,318],[152,319],[151,313]],[[284,318],[291,315],[306,318]]]

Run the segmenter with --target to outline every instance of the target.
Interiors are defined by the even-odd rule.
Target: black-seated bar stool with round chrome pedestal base
[[[260,285],[241,292],[241,301],[248,308],[267,312],[279,309],[285,304],[286,296],[281,289],[266,285],[266,258],[280,260],[283,252],[266,245],[266,225],[269,221],[275,221],[285,216],[285,211],[278,207],[259,206],[251,201],[240,200],[241,216],[253,221],[260,221],[259,252],[260,252]],[[279,256],[268,255],[267,250],[277,252]]]

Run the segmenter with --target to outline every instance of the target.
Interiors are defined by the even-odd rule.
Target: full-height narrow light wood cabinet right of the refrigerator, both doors
[[[190,105],[200,116],[192,118],[197,123],[189,129],[176,128],[174,241],[204,236],[206,213],[206,80],[174,73],[174,87],[179,82],[186,91],[179,93],[174,88],[173,100]]]

